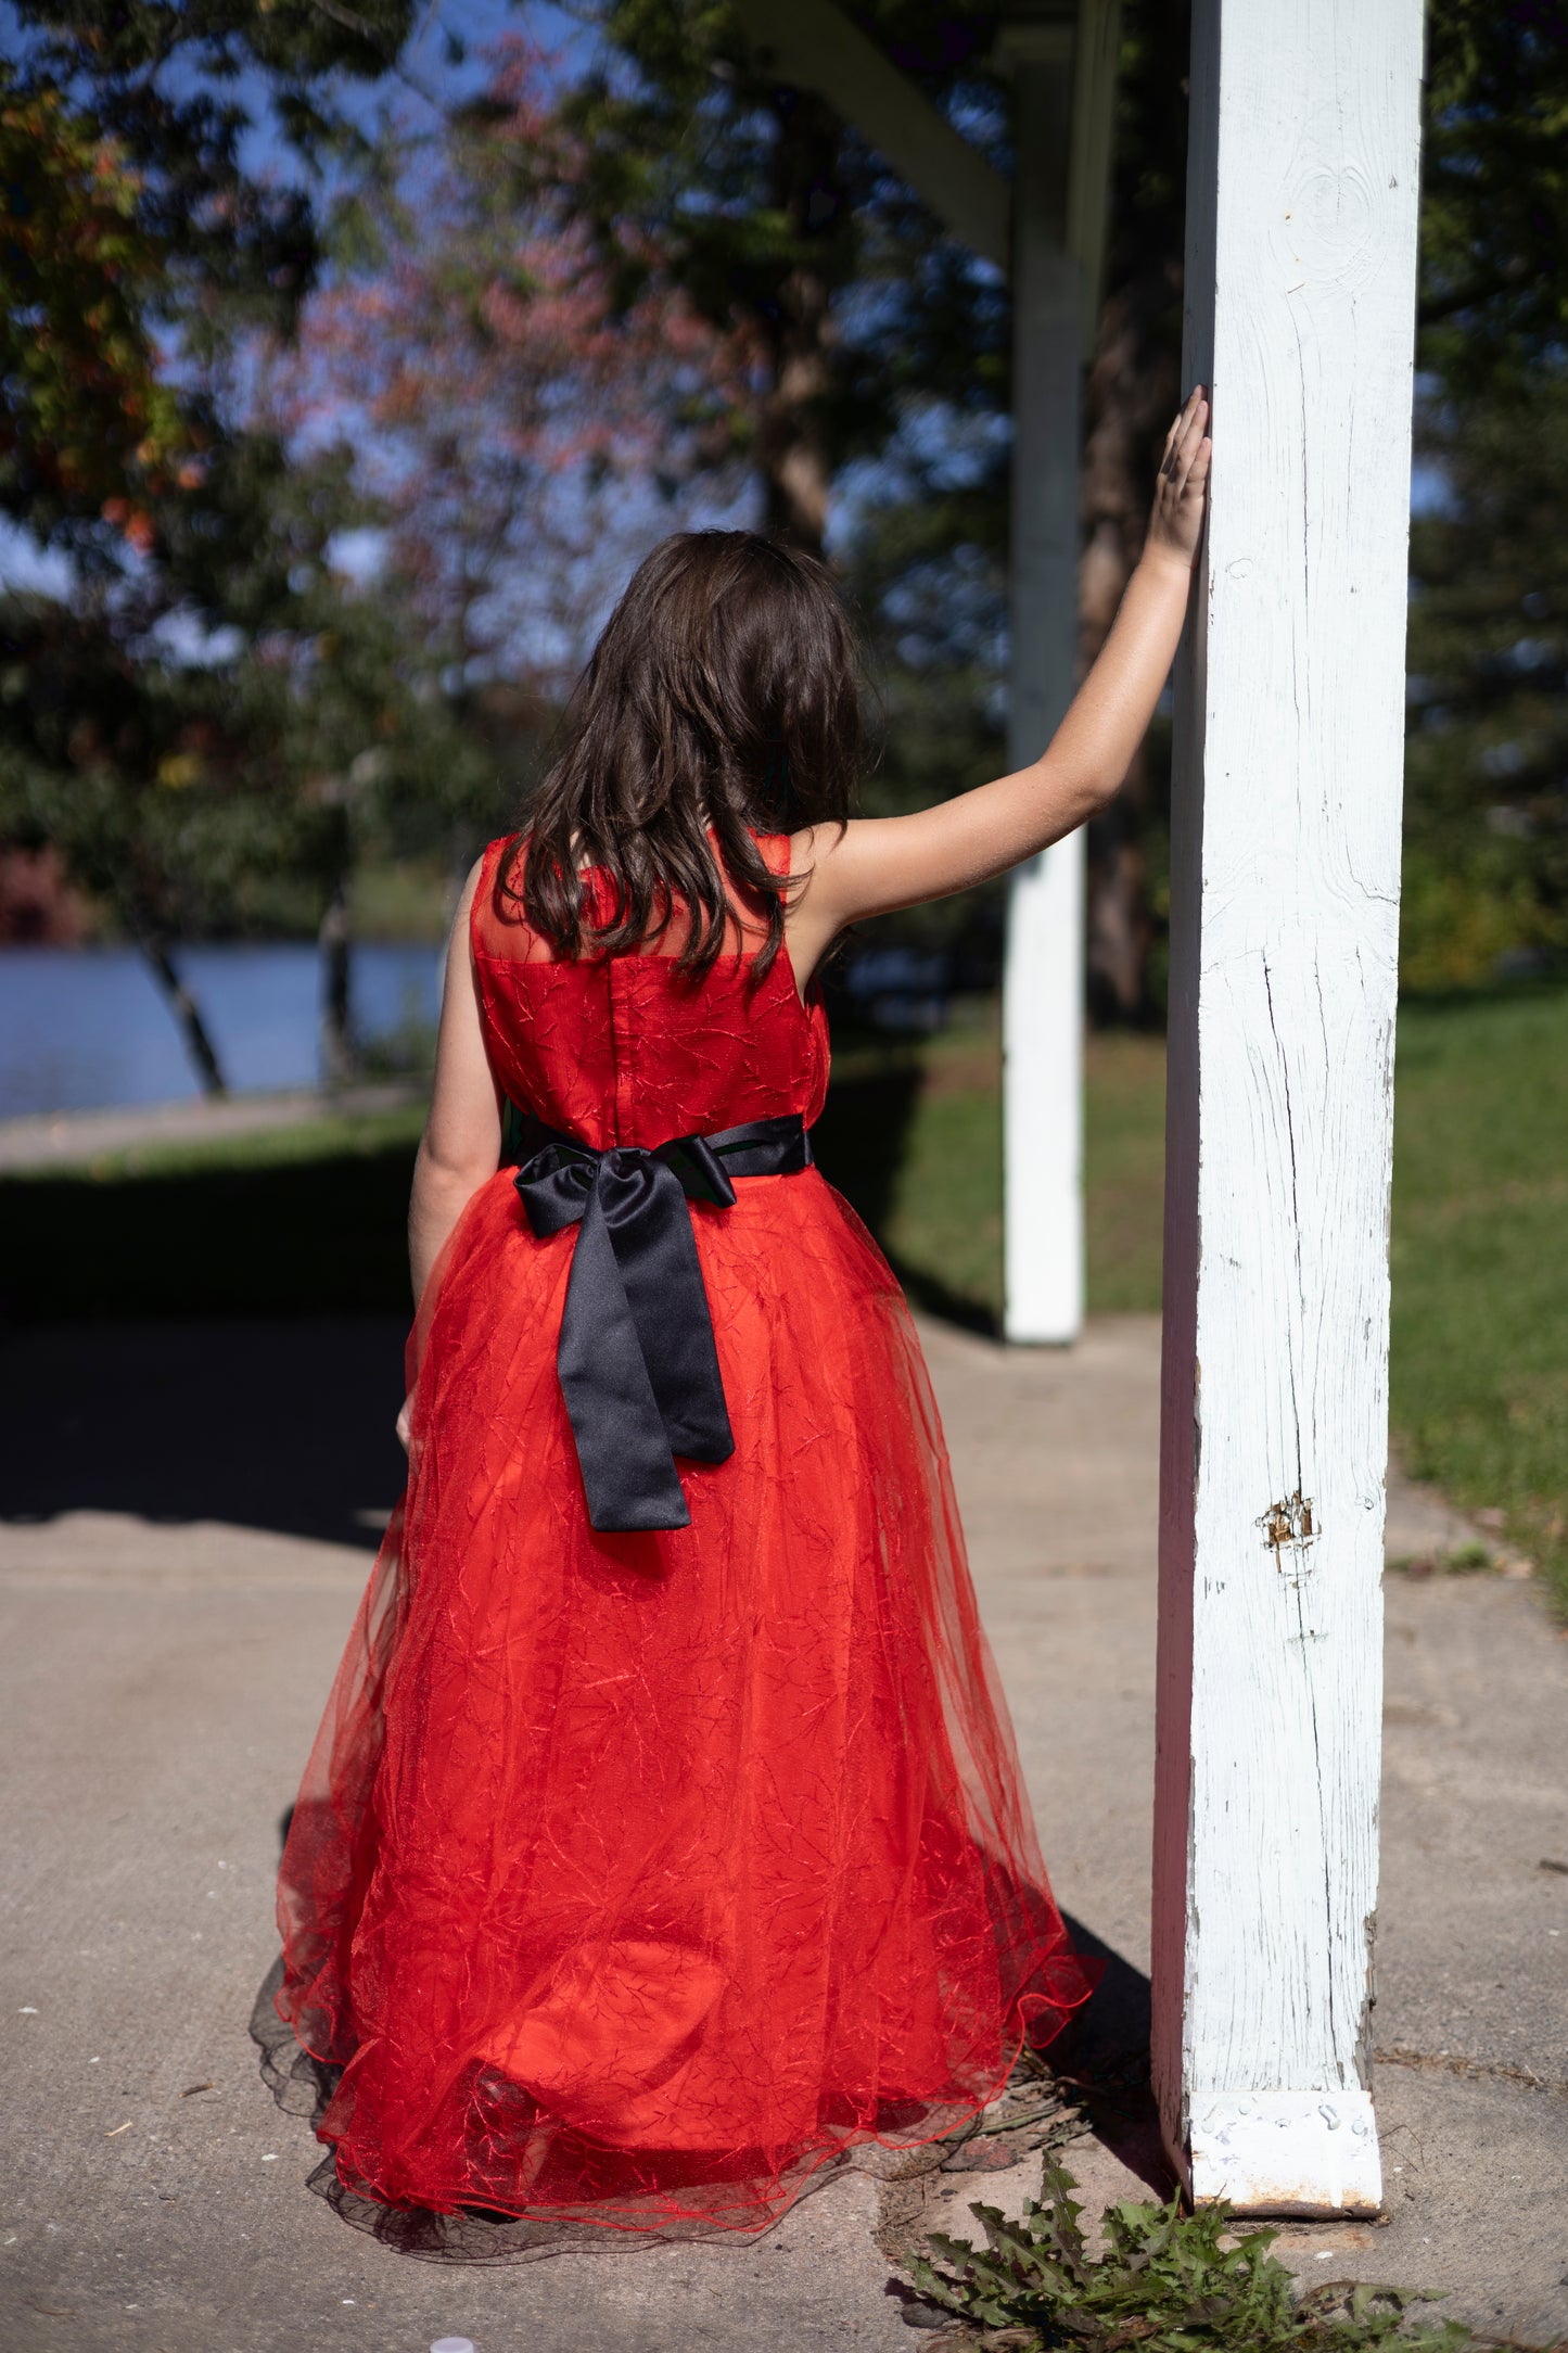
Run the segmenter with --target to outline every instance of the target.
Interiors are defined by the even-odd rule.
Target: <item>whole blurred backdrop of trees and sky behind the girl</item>
[[[994,5],[849,14],[1011,169]],[[0,607],[0,838],[52,842],[176,1002],[181,936],[322,925],[346,1068],[355,871],[449,887],[684,522],[827,546],[870,809],[994,772],[1006,285],[726,0],[517,5],[477,61],[456,12],[433,104],[402,0],[16,21],[0,506],[66,569]],[[1084,661],[1180,395],[1185,52],[1185,0],[1126,0]],[[1434,0],[1427,113],[1403,958],[1460,986],[1568,946],[1561,0]],[[1095,1019],[1159,1024],[1166,915],[1157,722],[1091,828]],[[999,894],[884,932],[980,979]]]

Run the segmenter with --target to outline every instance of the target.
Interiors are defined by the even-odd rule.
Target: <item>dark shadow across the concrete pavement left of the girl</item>
[[[125,1511],[374,1551],[404,1478],[404,1332],[390,1315],[9,1332],[0,1520]]]

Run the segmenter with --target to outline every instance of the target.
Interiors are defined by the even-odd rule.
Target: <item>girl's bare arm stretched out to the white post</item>
[[[1154,718],[1187,614],[1208,499],[1208,398],[1194,386],[1166,435],[1143,560],[1095,666],[1032,767],[912,816],[818,826],[792,842],[809,873],[788,915],[804,981],[835,932],[1006,873],[1072,833],[1121,788]]]

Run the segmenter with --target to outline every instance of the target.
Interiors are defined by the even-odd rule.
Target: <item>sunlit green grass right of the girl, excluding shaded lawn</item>
[[[994,1033],[922,1052],[905,1148],[872,1217],[910,1292],[1001,1304]],[[1086,1068],[1095,1315],[1159,1308],[1164,1047],[1107,1035]],[[860,1080],[863,1082],[863,1080]],[[837,1174],[837,1172],[835,1172]],[[853,1181],[846,1186],[853,1195]],[[1408,1468],[1505,1539],[1568,1614],[1568,988],[1399,1014],[1392,1421]]]

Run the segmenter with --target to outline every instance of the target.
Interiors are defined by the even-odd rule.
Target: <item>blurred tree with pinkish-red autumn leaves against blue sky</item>
[[[545,59],[508,42],[482,108],[393,125],[353,259],[275,369],[296,445],[339,452],[374,496],[402,626],[482,755],[477,791],[397,800],[395,845],[440,847],[454,882],[512,814],[625,574],[691,520],[693,482],[708,511],[745,499],[689,419],[733,376],[733,336],[668,285],[611,313],[576,172]]]

